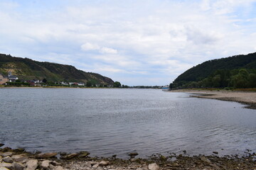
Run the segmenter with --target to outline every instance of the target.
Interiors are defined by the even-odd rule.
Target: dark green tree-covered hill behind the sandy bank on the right
[[[178,76],[174,84],[180,87],[246,88],[252,87],[253,83],[249,81],[254,77],[256,77],[256,52],[203,62]]]

